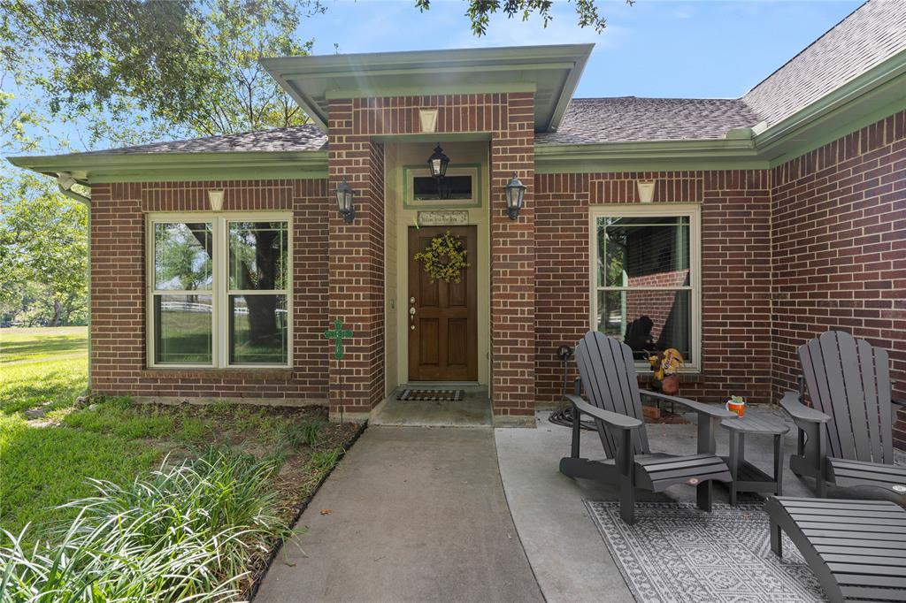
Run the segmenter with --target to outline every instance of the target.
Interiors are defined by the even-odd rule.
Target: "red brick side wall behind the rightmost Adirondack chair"
[[[839,329],[890,353],[906,397],[906,112],[795,158],[774,184],[774,389],[796,348]],[[906,413],[897,423],[906,447]]]

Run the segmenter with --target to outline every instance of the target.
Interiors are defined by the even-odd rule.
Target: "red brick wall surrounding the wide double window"
[[[147,369],[145,213],[225,210],[294,214],[293,369]],[[327,397],[327,215],[324,180],[107,184],[92,187],[92,375],[101,394],[140,397]]]

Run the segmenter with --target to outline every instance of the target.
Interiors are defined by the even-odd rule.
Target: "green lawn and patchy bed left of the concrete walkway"
[[[226,445],[284,464],[274,484],[289,513],[352,436],[321,407],[166,407],[128,398],[74,406],[87,381],[84,328],[0,330],[0,527],[72,519],[57,505],[94,493],[89,478],[129,483],[165,458],[176,463]],[[44,407],[45,416],[24,411]],[[325,459],[332,462],[326,462]],[[0,543],[3,538],[0,537]]]

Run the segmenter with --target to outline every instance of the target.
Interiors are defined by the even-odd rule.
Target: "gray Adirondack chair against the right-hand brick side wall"
[[[904,403],[891,397],[887,350],[829,330],[800,346],[799,360],[800,391],[780,400],[799,429],[793,472],[814,477],[821,498],[825,481],[906,493],[906,467],[893,464],[892,437],[892,415]],[[803,378],[812,407],[802,403]]]

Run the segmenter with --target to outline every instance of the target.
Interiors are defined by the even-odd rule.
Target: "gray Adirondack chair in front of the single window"
[[[712,482],[731,481],[727,464],[717,455],[714,439],[718,423],[736,417],[724,408],[709,407],[683,397],[639,389],[631,348],[597,331],[588,332],[575,349],[582,377],[575,380],[573,447],[560,460],[560,473],[620,486],[620,514],[635,522],[635,489],[662,492],[676,483],[697,487],[700,509],[711,510]],[[582,388],[590,402],[581,396]],[[641,414],[641,394],[689,407],[699,414],[699,454],[676,456],[651,453]],[[598,427],[606,460],[582,458],[580,419],[591,416]]]

